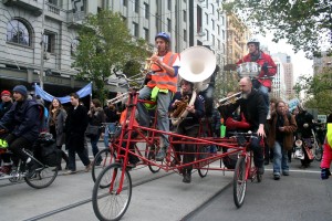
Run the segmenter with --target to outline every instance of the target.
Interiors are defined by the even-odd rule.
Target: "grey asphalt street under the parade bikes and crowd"
[[[1,220],[96,220],[91,202],[91,172],[63,176],[49,188],[35,190],[25,182],[0,182]],[[133,196],[122,220],[332,220],[331,179],[320,179],[319,162],[307,170],[293,160],[290,177],[272,179],[271,164],[261,183],[248,182],[242,208],[232,200],[232,172],[197,172],[191,183],[172,171],[152,173],[147,167],[131,171]],[[215,162],[211,167],[218,167]]]

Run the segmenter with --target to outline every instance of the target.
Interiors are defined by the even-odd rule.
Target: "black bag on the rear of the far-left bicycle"
[[[61,150],[58,149],[56,143],[52,139],[49,133],[41,133],[38,140],[34,143],[34,152],[37,158],[50,166],[56,167],[61,164]]]

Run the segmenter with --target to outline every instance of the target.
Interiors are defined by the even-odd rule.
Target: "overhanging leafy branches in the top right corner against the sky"
[[[331,0],[228,0],[222,10],[237,14],[255,33],[272,32],[276,43],[287,40],[308,57],[319,56],[324,43],[331,52]]]

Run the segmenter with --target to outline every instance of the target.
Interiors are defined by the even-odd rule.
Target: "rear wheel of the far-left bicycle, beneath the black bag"
[[[44,166],[35,170],[31,178],[24,177],[25,182],[35,189],[42,189],[52,185],[58,176],[58,167]]]

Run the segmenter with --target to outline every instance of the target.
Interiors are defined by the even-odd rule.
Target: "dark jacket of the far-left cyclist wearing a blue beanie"
[[[15,137],[24,137],[33,143],[41,126],[39,105],[32,99],[15,102],[0,120]]]

